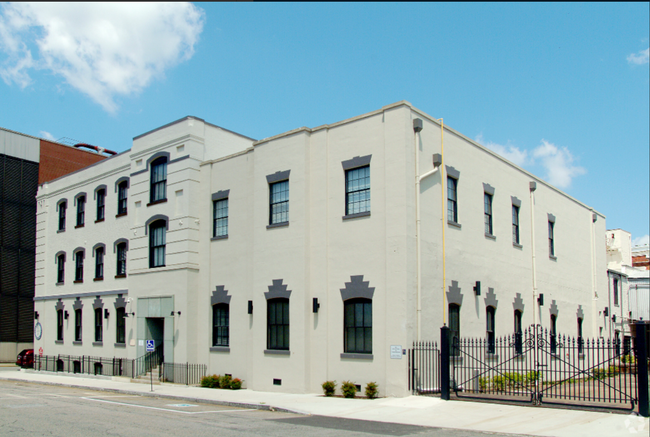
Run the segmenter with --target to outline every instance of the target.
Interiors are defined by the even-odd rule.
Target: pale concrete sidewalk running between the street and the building
[[[126,378],[91,377],[33,370],[4,369],[0,380],[54,384],[169,397],[246,408],[275,409],[320,416],[372,420],[438,428],[535,436],[647,436],[647,418],[628,414],[569,409],[535,408],[483,402],[443,401],[440,398],[343,399],[319,394],[270,393],[254,390],[219,390],[177,384],[132,383]]]

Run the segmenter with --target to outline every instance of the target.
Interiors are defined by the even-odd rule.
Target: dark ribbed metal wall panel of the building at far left
[[[38,163],[0,154],[0,342],[33,341]]]

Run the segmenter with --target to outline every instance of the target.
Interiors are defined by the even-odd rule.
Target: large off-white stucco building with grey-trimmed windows
[[[256,390],[403,396],[443,323],[602,327],[605,217],[408,102],[261,141],[186,117],[37,199],[46,355],[155,339]]]

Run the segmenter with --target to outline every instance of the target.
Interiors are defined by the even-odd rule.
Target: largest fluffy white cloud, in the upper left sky
[[[50,70],[114,112],[115,96],[138,93],[190,59],[203,24],[191,3],[5,4],[0,77],[24,88],[30,69]]]

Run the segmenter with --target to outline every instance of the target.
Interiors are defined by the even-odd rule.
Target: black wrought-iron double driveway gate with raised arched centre
[[[634,409],[637,366],[618,339],[555,336],[540,325],[491,341],[455,338],[451,389],[458,398]]]

